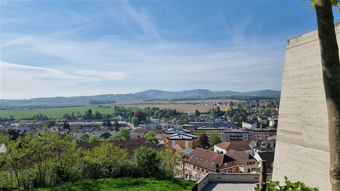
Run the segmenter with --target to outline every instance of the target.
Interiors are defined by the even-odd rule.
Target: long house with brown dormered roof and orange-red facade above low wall
[[[239,164],[225,154],[217,153],[202,148],[196,148],[185,159],[185,179],[206,173],[239,173]]]

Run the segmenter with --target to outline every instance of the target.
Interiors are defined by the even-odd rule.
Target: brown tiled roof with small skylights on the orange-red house
[[[185,161],[215,171],[216,164],[221,166],[223,163],[235,160],[225,154],[218,154],[217,152],[196,148],[187,155],[187,159]]]

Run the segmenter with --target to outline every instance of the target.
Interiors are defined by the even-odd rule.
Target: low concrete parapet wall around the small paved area
[[[272,174],[267,175],[267,182],[272,178]],[[250,182],[259,183],[260,174],[243,174],[243,173],[208,173],[197,181],[197,191],[201,191],[209,182]]]

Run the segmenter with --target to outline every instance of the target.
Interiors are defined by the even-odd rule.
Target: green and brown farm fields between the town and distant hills
[[[77,103],[74,103],[74,105],[78,105]],[[113,107],[112,104],[110,104],[111,107]],[[158,107],[160,109],[163,108],[170,108],[170,109],[176,109],[176,111],[183,111],[183,112],[194,112],[195,110],[198,110],[200,112],[207,112],[209,109],[213,109],[217,106],[204,106],[204,105],[187,105],[187,104],[178,104],[178,105],[170,105],[170,104],[124,104],[119,105],[124,107],[138,107],[138,108],[146,108],[146,107]],[[228,111],[230,109],[230,106],[219,106],[221,111]],[[113,113],[113,108],[97,108],[97,106],[82,106],[82,107],[68,107],[68,108],[51,108],[51,109],[38,109],[38,110],[5,110],[0,111],[0,116],[9,116],[10,114],[13,114],[16,119],[20,118],[28,118],[31,117],[34,114],[42,113],[45,114],[48,117],[61,117],[61,115],[65,112],[70,113],[71,111],[80,111],[81,113],[84,113],[84,111],[87,111],[88,109],[91,109],[92,111],[99,111],[100,113],[106,113],[110,114]]]

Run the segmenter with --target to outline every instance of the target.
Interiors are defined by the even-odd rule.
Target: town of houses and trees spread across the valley
[[[114,106],[113,113],[101,114],[89,109],[82,116],[77,112],[75,119],[70,119],[73,111],[64,113],[64,123],[54,119],[4,123],[0,131],[2,137],[10,135],[12,140],[25,136],[42,139],[55,134],[90,152],[108,142],[127,149],[131,159],[140,147],[156,151],[170,148],[181,159],[173,176],[187,180],[198,181],[207,173],[259,174],[261,160],[267,161],[267,173],[272,173],[279,100],[199,104],[208,104],[212,110],[184,113],[167,108],[140,110]],[[230,109],[221,111],[223,105]],[[92,113],[97,113],[92,115],[93,119],[98,115],[103,119],[85,122],[83,118]],[[119,117],[119,120],[110,117]],[[70,120],[65,120],[67,118]],[[4,143],[0,152],[8,152]]]

